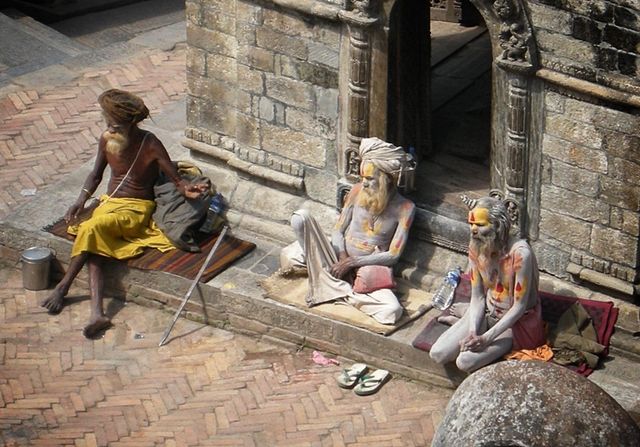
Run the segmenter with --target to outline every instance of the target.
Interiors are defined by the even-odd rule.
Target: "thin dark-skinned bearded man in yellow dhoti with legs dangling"
[[[100,137],[94,167],[65,219],[71,223],[78,217],[109,166],[111,178],[107,194],[100,198],[100,205],[89,220],[69,227],[69,232],[76,234],[69,268],[53,292],[42,302],[50,313],[60,312],[71,283],[87,263],[91,317],[83,330],[86,337],[92,337],[111,325],[102,305],[102,265],[105,258],[128,259],[140,254],[144,247],[155,247],[162,251],[174,248],[151,220],[155,208],[153,186],[160,171],[187,198],[197,198],[209,190],[207,184],[184,182],[162,142],[151,132],[138,127],[138,123],[149,116],[149,110],[141,98],[111,89],[102,93],[98,102],[107,130]]]

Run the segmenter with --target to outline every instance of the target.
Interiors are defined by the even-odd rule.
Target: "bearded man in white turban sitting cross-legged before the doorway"
[[[306,211],[291,218],[297,241],[281,254],[282,271],[306,268],[307,304],[345,301],[382,324],[394,324],[403,308],[393,293],[391,267],[409,236],[415,205],[402,197],[396,181],[409,157],[379,138],[360,145],[362,181],[353,186],[331,239]]]

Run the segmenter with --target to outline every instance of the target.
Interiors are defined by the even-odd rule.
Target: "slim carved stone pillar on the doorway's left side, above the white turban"
[[[339,17],[349,30],[349,81],[347,91],[346,147],[341,159],[341,177],[357,181],[360,167],[358,147],[369,134],[371,87],[371,26],[378,21],[368,8],[341,11]],[[340,191],[340,189],[339,189]],[[341,197],[338,197],[340,206]]]

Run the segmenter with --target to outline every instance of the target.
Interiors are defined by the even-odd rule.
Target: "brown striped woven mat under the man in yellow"
[[[60,219],[44,230],[70,241],[74,239],[74,236],[67,233],[67,223],[64,219]],[[188,253],[178,249],[162,253],[159,250],[147,248],[140,256],[123,262],[126,262],[130,267],[141,270],[158,270],[173,273],[183,278],[194,279],[198,271],[200,271],[213,244],[216,243],[217,238],[217,235],[201,234],[199,246],[202,251],[200,253]],[[200,282],[209,281],[255,247],[256,245],[254,243],[238,239],[227,233],[209,263],[209,266],[202,274]]]

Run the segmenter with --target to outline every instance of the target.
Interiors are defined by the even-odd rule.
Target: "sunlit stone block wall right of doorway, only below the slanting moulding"
[[[637,283],[640,118],[557,92],[545,98],[540,239],[556,252],[545,250],[541,267],[562,276],[570,260]]]

